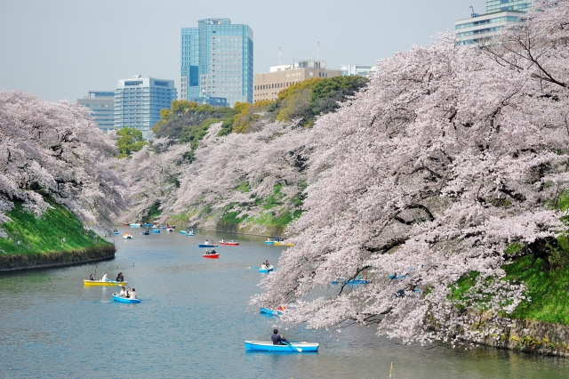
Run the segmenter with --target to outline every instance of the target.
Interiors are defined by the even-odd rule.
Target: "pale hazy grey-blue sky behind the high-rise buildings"
[[[228,18],[253,30],[254,73],[293,59],[373,64],[485,12],[484,0],[0,0],[0,90],[76,101],[136,74],[175,80],[180,28]]]

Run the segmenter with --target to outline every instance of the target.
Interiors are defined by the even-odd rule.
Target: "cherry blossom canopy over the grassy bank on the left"
[[[85,224],[106,228],[125,208],[125,189],[108,165],[114,142],[88,109],[0,93],[0,222],[20,201],[41,216],[50,196]]]

